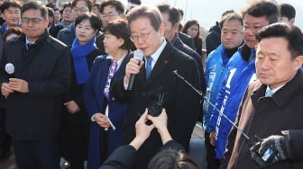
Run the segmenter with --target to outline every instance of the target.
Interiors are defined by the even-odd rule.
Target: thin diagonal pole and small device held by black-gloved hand
[[[218,110],[218,109],[216,108],[216,105],[215,105],[215,104],[213,104],[212,102],[209,102],[209,101],[207,100],[207,98],[204,97],[204,93],[202,93],[201,91],[197,90],[197,89],[196,89],[192,84],[190,84],[183,76],[180,76],[179,73],[177,72],[177,70],[174,70],[174,71],[172,72],[172,74],[175,75],[175,76],[178,76],[179,79],[181,79],[183,82],[185,82],[186,84],[188,84],[188,86],[189,86],[191,89],[193,89],[196,93],[198,93],[198,94],[204,99],[204,101],[208,102],[210,106],[212,106],[216,111],[218,111],[218,113],[219,113],[220,115],[222,115],[222,116],[225,118],[225,120],[228,120],[228,122],[230,122],[230,123],[234,126],[234,128],[237,129],[238,131],[240,131],[240,133],[243,135],[243,137],[246,138],[246,139],[248,140],[248,142],[249,142],[250,145],[253,146],[253,145],[255,144],[255,142],[253,142],[253,140],[252,140],[251,138],[249,138],[248,135],[247,135],[246,133],[244,133],[242,129],[239,129],[239,127],[233,122],[233,120],[230,120],[230,119],[223,113],[223,111]],[[255,136],[255,138],[258,138],[258,137]],[[261,139],[258,138],[258,140],[260,141]],[[255,151],[257,151],[257,150],[255,150]],[[269,148],[265,151],[265,153],[264,153],[263,155],[260,155],[258,152],[255,152],[255,153],[257,153],[257,154],[261,157],[261,159],[262,159],[262,161],[257,160],[256,162],[257,162],[258,165],[260,165],[261,167],[264,167],[264,164],[266,164],[266,163],[274,156],[275,151],[274,151],[271,147],[269,147]]]

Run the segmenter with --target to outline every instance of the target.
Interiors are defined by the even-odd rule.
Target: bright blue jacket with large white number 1
[[[253,59],[246,61],[253,54]],[[255,50],[244,44],[229,60],[223,86],[216,99],[216,108],[230,120],[235,121],[243,93],[255,76]],[[216,130],[216,158],[221,159],[225,152],[228,134],[233,125],[218,111],[214,110],[209,120],[209,129]]]

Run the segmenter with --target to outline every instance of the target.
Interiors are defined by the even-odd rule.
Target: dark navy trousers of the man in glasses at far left
[[[58,138],[12,140],[18,169],[60,169]]]

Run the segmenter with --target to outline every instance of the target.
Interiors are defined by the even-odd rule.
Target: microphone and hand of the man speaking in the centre
[[[137,49],[133,53],[133,58],[131,58],[131,60],[126,65],[125,76],[126,79],[128,79],[128,91],[133,90],[134,76],[140,72],[140,68],[144,64],[144,62],[142,62],[143,57],[143,51],[141,49]]]

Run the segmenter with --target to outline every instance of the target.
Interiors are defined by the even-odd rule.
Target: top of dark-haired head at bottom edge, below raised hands
[[[185,151],[161,150],[152,157],[148,169],[198,169],[194,160]]]

